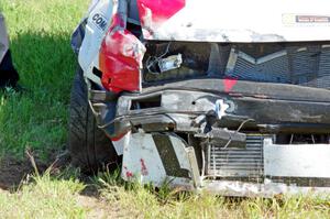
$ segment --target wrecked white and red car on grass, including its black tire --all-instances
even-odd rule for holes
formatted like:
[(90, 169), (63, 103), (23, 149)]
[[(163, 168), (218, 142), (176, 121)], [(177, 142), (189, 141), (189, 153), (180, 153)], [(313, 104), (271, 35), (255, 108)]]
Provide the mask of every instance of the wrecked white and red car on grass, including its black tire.
[(125, 180), (228, 196), (330, 194), (330, 2), (99, 0), (73, 47), (75, 165), (122, 160)]

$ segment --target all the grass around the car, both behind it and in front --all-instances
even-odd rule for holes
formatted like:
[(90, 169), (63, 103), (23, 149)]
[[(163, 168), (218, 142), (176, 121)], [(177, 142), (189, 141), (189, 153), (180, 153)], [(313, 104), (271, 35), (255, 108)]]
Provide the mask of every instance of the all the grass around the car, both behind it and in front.
[[(87, 4), (88, 0), (1, 0), (20, 84), (29, 89), (23, 95), (0, 94), (2, 157), (20, 160), (29, 147), (47, 160), (66, 144), (76, 66), (69, 37)], [(124, 183), (118, 173), (102, 173), (91, 185), (77, 178), (47, 172), (12, 193), (0, 188), (0, 218), (330, 218), (330, 200), (309, 197), (229, 199), (166, 187), (156, 191)], [(81, 195), (87, 186), (97, 187), (99, 196)]]

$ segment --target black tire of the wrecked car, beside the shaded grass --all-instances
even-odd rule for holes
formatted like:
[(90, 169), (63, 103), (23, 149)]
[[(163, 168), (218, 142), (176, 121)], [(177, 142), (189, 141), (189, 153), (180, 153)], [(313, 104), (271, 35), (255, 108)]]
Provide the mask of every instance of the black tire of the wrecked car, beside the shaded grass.
[(72, 88), (68, 151), (74, 166), (95, 173), (116, 164), (118, 155), (110, 139), (97, 127), (87, 98), (87, 85), (78, 68)]

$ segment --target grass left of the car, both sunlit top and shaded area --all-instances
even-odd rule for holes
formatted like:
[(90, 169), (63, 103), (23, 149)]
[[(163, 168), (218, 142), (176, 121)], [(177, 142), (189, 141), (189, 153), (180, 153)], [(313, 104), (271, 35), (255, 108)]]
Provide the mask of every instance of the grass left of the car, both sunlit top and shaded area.
[(1, 0), (22, 96), (0, 95), (1, 154), (26, 147), (46, 158), (67, 141), (68, 102), (76, 58), (70, 34), (87, 0)]

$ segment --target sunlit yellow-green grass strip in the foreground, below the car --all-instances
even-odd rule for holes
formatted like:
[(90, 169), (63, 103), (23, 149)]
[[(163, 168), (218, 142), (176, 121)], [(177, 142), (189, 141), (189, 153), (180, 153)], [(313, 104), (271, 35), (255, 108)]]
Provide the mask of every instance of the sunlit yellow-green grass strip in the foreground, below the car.
[[(212, 194), (155, 189), (124, 183), (118, 173), (102, 173), (88, 186), (98, 196), (82, 193), (77, 173), (64, 172), (30, 178), (13, 193), (0, 190), (0, 218), (308, 218), (328, 219), (330, 201), (310, 197), (224, 198)], [(81, 195), (85, 194), (85, 195)]]

